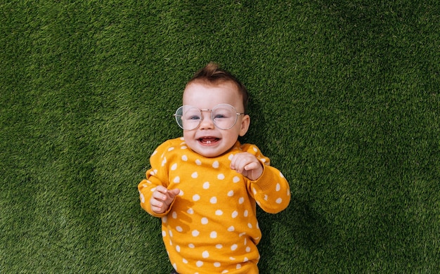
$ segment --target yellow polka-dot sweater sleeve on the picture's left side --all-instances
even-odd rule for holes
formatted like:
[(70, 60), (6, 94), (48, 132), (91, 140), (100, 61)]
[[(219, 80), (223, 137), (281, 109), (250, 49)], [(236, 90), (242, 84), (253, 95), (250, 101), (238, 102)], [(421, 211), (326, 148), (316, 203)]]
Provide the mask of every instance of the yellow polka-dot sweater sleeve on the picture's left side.
[(139, 198), (141, 200), (141, 207), (147, 211), (150, 215), (155, 217), (162, 217), (168, 214), (169, 210), (172, 208), (170, 205), (169, 209), (162, 214), (156, 214), (151, 210), (150, 199), (153, 196), (153, 192), (158, 185), (163, 185), (165, 188), (168, 187), (168, 164), (166, 152), (169, 148), (169, 141), (162, 143), (153, 154), (150, 156), (150, 169), (145, 172), (146, 178), (138, 184)]

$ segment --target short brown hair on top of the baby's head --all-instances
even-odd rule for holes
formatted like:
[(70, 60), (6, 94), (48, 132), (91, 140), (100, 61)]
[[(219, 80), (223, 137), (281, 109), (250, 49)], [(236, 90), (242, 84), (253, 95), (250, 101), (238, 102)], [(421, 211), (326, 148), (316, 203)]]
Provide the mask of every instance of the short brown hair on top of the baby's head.
[[(245, 85), (242, 84), (233, 74), (226, 70), (221, 70), (218, 64), (210, 62), (198, 72), (195, 72), (193, 78), (188, 81), (188, 84), (193, 81), (206, 81), (209, 84), (219, 84), (225, 81), (231, 81), (237, 86), (238, 92), (242, 96), (243, 107), (245, 113), (247, 113), (247, 103), (249, 101), (249, 93)], [(188, 86), (188, 84), (186, 84)]]

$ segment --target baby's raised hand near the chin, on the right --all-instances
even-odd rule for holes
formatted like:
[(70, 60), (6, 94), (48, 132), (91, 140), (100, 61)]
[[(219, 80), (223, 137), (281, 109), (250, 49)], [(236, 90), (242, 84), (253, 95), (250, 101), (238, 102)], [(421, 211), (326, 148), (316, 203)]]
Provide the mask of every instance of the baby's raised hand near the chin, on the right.
[(248, 152), (235, 154), (231, 160), (231, 169), (252, 181), (257, 180), (263, 174), (263, 166), (257, 157)]

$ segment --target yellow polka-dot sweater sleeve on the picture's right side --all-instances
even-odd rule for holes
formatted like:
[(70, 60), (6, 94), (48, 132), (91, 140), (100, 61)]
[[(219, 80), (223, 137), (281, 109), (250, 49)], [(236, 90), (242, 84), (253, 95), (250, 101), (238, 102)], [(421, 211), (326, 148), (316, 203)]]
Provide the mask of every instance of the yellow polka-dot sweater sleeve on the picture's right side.
[(255, 146), (247, 152), (254, 154), (263, 164), (263, 174), (256, 181), (247, 181), (247, 191), (264, 211), (276, 214), (287, 208), (290, 202), (290, 186), (281, 171), (271, 167), (268, 157), (261, 155)]

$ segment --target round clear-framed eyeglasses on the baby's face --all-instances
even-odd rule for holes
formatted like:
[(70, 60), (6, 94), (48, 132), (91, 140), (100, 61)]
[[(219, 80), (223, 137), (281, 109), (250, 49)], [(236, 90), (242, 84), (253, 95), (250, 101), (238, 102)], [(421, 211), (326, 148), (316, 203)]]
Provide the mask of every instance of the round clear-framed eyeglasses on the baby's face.
[(181, 129), (190, 131), (197, 129), (202, 122), (202, 112), (211, 112), (212, 122), (218, 129), (231, 129), (237, 123), (238, 116), (245, 115), (245, 113), (237, 112), (235, 107), (228, 104), (216, 105), (212, 110), (200, 110), (192, 105), (182, 105), (176, 110), (174, 117)]

